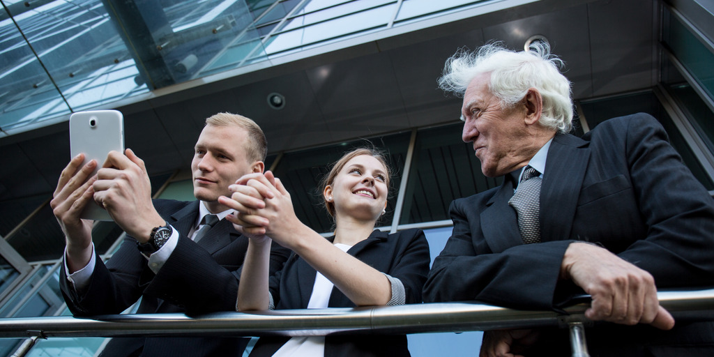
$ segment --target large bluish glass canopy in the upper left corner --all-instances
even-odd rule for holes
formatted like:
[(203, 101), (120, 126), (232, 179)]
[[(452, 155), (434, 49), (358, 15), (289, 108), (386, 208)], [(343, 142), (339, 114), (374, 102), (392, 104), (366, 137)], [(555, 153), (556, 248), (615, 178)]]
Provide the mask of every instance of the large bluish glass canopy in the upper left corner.
[[(261, 59), (260, 35), (250, 26), (273, 2), (247, 1), (250, 7), (244, 0), (11, 4), (17, 26), (6, 16), (0, 21), (0, 129)], [(262, 21), (280, 19), (297, 4), (281, 1)]]

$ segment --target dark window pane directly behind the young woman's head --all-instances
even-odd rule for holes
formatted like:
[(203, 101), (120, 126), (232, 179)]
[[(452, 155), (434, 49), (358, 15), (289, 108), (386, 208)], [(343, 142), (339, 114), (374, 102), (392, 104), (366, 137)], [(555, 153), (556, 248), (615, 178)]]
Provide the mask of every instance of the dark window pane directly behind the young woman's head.
[(401, 183), (401, 171), (409, 146), (409, 133), (383, 136), (366, 141), (353, 141), (327, 148), (309, 149), (285, 154), (275, 170), (275, 176), (283, 181), (291, 195), (295, 214), (301, 222), (320, 233), (332, 231), (332, 219), (323, 208), (322, 193), (318, 192), (318, 183), (328, 174), (328, 165), (352, 149), (361, 146), (376, 146), (388, 153), (388, 159), (394, 174), (391, 176), (390, 198), (387, 200), (387, 213), (380, 218), (377, 226), (391, 223), (394, 214), (395, 193)]

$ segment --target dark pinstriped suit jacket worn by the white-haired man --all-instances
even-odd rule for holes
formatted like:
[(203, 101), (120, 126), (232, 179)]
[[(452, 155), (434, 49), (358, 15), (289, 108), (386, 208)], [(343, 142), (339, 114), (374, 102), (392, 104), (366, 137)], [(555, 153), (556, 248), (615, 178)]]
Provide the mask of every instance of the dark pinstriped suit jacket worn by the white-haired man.
[[(507, 175), (502, 186), (452, 203), (453, 235), (433, 263), (425, 301), (557, 307), (578, 293), (558, 280), (573, 241), (602, 244), (650, 272), (658, 288), (714, 283), (714, 201), (647, 114), (610, 119), (583, 139), (555, 136), (540, 193), (542, 243), (523, 244), (508, 206), (513, 187)], [(560, 343), (567, 348), (567, 339)]]

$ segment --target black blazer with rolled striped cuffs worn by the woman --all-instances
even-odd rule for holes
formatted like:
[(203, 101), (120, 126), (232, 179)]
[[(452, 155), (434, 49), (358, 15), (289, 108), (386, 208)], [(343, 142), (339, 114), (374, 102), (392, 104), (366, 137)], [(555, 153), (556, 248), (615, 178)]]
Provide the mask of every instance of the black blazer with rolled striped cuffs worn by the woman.
[[(329, 238), (331, 241), (334, 237)], [(388, 234), (373, 231), (347, 251), (369, 266), (398, 278), (404, 285), (406, 303), (421, 303), (421, 288), (429, 271), (429, 246), (421, 229)], [(307, 308), (316, 270), (295, 253), (283, 271), (270, 279), (270, 291), (276, 310)], [(333, 288), (328, 306), (353, 308), (338, 288)], [(273, 356), (289, 338), (263, 337), (251, 351), (251, 357)], [(326, 336), (325, 356), (409, 356), (406, 336)]]

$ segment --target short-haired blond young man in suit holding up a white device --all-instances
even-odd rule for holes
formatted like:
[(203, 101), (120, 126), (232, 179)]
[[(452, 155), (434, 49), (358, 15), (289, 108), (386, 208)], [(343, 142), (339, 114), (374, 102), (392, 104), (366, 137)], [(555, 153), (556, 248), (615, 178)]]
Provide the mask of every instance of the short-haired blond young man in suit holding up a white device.
[[(191, 171), (196, 201), (151, 200), (144, 161), (127, 149), (107, 159), (111, 168), (89, 177), (96, 161), (77, 156), (62, 171), (51, 201), (66, 235), (60, 284), (75, 316), (121, 313), (141, 297), (139, 313), (234, 311), (238, 269), (248, 248), (218, 203), (245, 174), (263, 172), (266, 139), (244, 116), (219, 113), (206, 119)], [(82, 208), (97, 201), (127, 238), (106, 265), (91, 241)], [(271, 273), (288, 250), (273, 245)], [(247, 338), (114, 338), (101, 356), (240, 356)]]

